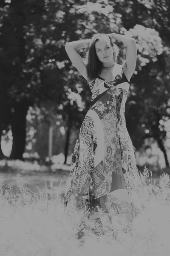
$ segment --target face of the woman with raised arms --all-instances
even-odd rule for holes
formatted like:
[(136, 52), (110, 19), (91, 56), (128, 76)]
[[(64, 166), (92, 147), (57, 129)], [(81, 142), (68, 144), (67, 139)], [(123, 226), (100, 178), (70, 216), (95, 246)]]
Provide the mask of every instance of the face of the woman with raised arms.
[(113, 49), (111, 47), (111, 41), (109, 38), (103, 37), (99, 39), (95, 44), (95, 49), (99, 61), (108, 62), (113, 59)]

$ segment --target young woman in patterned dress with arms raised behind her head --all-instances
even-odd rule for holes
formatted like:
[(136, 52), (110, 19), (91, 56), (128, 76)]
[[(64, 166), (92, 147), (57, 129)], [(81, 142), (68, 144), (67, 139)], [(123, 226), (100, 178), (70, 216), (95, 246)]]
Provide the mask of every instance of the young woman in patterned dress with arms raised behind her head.
[[(117, 63), (115, 40), (127, 46), (123, 65)], [(85, 64), (77, 50), (87, 45)], [(115, 33), (96, 34), (89, 40), (65, 44), (65, 50), (92, 92), (91, 107), (72, 155), (65, 206), (73, 197), (77, 207), (88, 210), (90, 220), (117, 215), (130, 227), (142, 210), (142, 183), (125, 123), (125, 102), (136, 67), (136, 42)]]

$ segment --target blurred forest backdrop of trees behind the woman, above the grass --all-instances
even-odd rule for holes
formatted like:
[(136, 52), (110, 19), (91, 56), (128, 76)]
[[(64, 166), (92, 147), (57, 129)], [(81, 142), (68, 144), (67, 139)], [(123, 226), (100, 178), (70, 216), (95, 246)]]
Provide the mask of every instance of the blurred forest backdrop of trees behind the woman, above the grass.
[[(157, 175), (169, 172), (169, 13), (169, 0), (1, 0), (2, 171), (7, 171), (4, 159), (71, 164), (91, 91), (64, 46), (114, 32), (133, 37), (137, 45), (125, 118), (138, 168), (147, 166)], [(126, 47), (115, 43), (122, 64)], [(78, 51), (82, 58), (85, 51)]]

